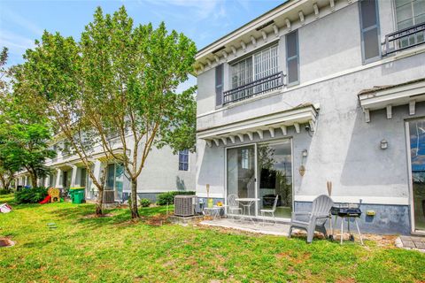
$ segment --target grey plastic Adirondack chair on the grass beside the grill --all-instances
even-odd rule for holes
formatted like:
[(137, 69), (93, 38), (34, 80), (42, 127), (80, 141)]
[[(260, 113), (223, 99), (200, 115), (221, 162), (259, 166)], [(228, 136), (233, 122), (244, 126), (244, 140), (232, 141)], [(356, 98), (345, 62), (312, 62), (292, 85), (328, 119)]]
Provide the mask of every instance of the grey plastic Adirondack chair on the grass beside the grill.
[[(328, 237), (326, 233), (325, 223), (329, 218), (329, 212), (334, 202), (328, 195), (319, 195), (313, 200), (313, 209), (312, 212), (292, 212), (292, 218), (290, 219), (290, 234), (292, 233), (292, 228), (297, 227), (299, 229), (304, 229), (307, 231), (307, 242), (311, 243), (313, 241), (314, 231), (321, 232), (325, 235), (325, 238)], [(297, 217), (303, 216), (307, 220), (299, 220)]]

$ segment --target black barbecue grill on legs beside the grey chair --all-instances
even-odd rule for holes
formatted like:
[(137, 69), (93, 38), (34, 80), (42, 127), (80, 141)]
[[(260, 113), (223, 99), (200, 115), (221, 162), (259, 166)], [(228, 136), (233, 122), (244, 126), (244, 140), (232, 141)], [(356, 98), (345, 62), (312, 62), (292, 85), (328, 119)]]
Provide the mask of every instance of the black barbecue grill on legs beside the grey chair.
[[(354, 241), (354, 236), (352, 235), (352, 232), (350, 230), (350, 218), (354, 218), (354, 222), (357, 227), (357, 232), (359, 233), (359, 238), (361, 244), (363, 244), (363, 240), (361, 239), (361, 233), (359, 229), (359, 224), (357, 223), (357, 218), (360, 218), (361, 216), (361, 210), (359, 208), (359, 204), (357, 203), (335, 203), (334, 206), (330, 209), (330, 214), (335, 215), (335, 226), (337, 218), (341, 218), (341, 244), (343, 243), (343, 236), (344, 236), (344, 218), (348, 218), (348, 233), (350, 233), (350, 241)], [(329, 237), (333, 240), (334, 239), (334, 230), (332, 229), (332, 221), (330, 221), (332, 235)]]

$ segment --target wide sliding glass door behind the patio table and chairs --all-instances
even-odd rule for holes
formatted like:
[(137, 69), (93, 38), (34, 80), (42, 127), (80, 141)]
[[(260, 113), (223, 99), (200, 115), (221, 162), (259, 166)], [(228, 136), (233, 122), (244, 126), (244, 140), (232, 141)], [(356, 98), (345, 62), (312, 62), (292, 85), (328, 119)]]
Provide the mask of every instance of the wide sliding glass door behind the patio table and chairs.
[[(257, 152), (256, 152), (257, 151)], [(258, 198), (251, 215), (271, 210), (277, 196), (276, 218), (292, 212), (292, 155), (290, 140), (227, 149), (227, 196)]]

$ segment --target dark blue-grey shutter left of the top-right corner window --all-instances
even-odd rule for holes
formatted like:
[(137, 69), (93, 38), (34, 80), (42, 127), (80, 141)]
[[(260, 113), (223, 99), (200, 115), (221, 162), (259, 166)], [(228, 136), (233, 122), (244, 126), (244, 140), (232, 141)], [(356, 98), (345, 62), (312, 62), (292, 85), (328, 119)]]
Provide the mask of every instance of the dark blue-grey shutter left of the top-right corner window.
[(378, 4), (375, 0), (360, 0), (359, 7), (363, 62), (369, 63), (381, 57)]

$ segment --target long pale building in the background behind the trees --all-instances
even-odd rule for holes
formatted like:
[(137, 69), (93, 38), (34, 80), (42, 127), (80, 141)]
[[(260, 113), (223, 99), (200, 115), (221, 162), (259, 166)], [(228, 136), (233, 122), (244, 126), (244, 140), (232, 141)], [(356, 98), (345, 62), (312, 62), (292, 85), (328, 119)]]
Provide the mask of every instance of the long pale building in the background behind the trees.
[[(133, 139), (128, 136), (128, 146), (132, 146)], [(120, 139), (112, 138), (112, 149), (117, 155), (123, 152)], [(66, 140), (56, 138), (51, 149), (57, 152), (57, 157), (48, 159), (46, 166), (51, 170), (50, 176), (38, 180), (37, 186), (58, 187), (69, 189), (70, 187), (84, 187), (85, 196), (88, 200), (96, 200), (97, 187), (89, 177), (89, 172), (77, 154), (70, 153)], [(100, 180), (102, 172), (106, 173), (104, 203), (125, 202), (131, 193), (131, 183), (124, 166), (104, 154), (103, 147), (98, 144), (88, 149), (91, 170), (97, 180)], [(142, 155), (140, 149), (139, 157)], [(128, 155), (131, 152), (127, 152)], [(156, 201), (160, 193), (168, 191), (193, 191), (195, 190), (196, 154), (189, 150), (181, 150), (177, 154), (169, 147), (161, 149), (153, 148), (146, 159), (142, 173), (137, 180), (137, 195)], [(27, 172), (20, 172), (15, 181), (15, 186), (32, 187), (31, 179)]]

